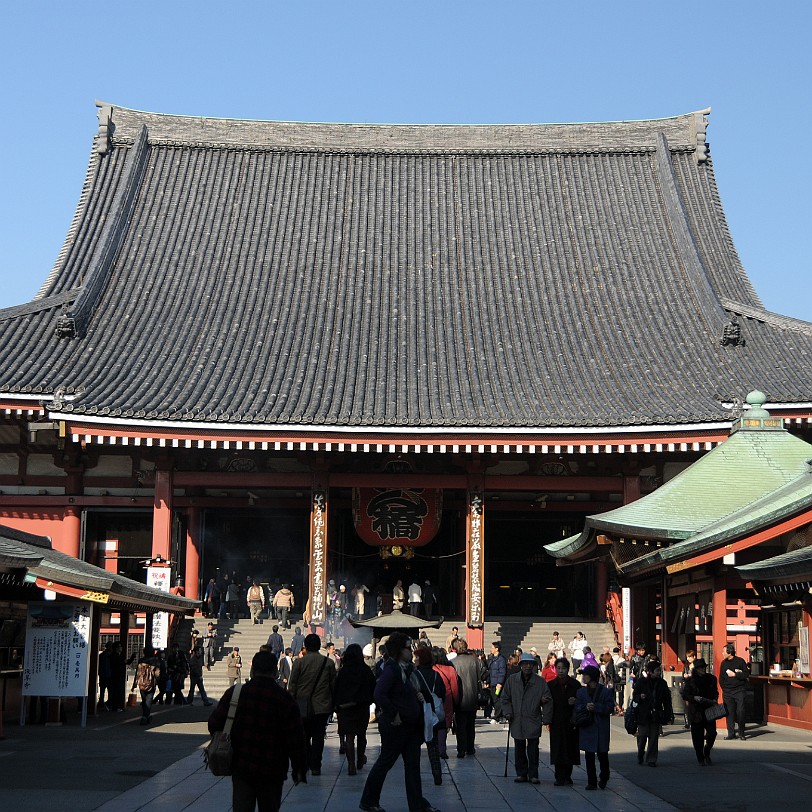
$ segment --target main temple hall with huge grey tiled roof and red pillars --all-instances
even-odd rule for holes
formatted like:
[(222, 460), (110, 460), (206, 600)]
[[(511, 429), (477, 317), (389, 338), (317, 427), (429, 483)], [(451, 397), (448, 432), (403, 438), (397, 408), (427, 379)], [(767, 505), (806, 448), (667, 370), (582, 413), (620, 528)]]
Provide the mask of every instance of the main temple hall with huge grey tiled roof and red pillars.
[(474, 647), (490, 617), (606, 618), (612, 560), (545, 545), (730, 442), (756, 387), (810, 439), (812, 324), (750, 284), (708, 114), (99, 103), (54, 266), (0, 310), (0, 524), (136, 580), (161, 556), (187, 597), (289, 582), (316, 624), (331, 579), (384, 608), (429, 580)]

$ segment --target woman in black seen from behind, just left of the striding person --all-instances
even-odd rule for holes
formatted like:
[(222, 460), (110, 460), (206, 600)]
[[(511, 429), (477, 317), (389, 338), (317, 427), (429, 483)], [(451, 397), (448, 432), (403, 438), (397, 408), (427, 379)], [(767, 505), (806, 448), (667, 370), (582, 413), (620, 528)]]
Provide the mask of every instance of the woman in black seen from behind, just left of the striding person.
[(355, 775), (367, 763), (369, 706), (374, 693), (375, 675), (364, 662), (361, 646), (352, 643), (344, 652), (333, 686), (338, 735), (344, 737), (347, 756), (347, 775)]

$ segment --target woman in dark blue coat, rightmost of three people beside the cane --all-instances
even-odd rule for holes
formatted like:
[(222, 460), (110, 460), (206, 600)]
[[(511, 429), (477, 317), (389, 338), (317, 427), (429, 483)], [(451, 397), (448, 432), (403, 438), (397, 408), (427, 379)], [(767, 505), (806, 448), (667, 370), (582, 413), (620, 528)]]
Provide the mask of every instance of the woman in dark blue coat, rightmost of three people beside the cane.
[[(584, 751), (587, 789), (606, 788), (609, 781), (609, 717), (615, 709), (614, 693), (599, 680), (594, 665), (582, 669), (583, 688), (575, 695), (572, 722), (578, 728), (578, 744)], [(600, 779), (595, 771), (595, 756), (601, 766)]]

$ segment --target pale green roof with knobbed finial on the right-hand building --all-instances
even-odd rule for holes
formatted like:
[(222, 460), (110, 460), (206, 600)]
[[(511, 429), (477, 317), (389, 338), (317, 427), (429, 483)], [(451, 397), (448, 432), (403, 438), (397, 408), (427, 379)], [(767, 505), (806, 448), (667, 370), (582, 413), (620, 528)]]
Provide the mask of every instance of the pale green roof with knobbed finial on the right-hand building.
[[(731, 436), (653, 493), (589, 516), (584, 530), (548, 544), (559, 563), (596, 558), (611, 545), (619, 572), (644, 575), (777, 526), (808, 522), (812, 446), (787, 432), (764, 408), (761, 392)], [(623, 547), (622, 554), (616, 549)]]

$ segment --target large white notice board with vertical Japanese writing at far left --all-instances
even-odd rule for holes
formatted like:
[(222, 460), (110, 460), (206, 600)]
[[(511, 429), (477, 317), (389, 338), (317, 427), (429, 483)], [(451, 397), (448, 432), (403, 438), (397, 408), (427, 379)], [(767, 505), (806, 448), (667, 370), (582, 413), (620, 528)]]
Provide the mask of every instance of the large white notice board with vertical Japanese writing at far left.
[(90, 602), (28, 604), (23, 696), (87, 696)]

